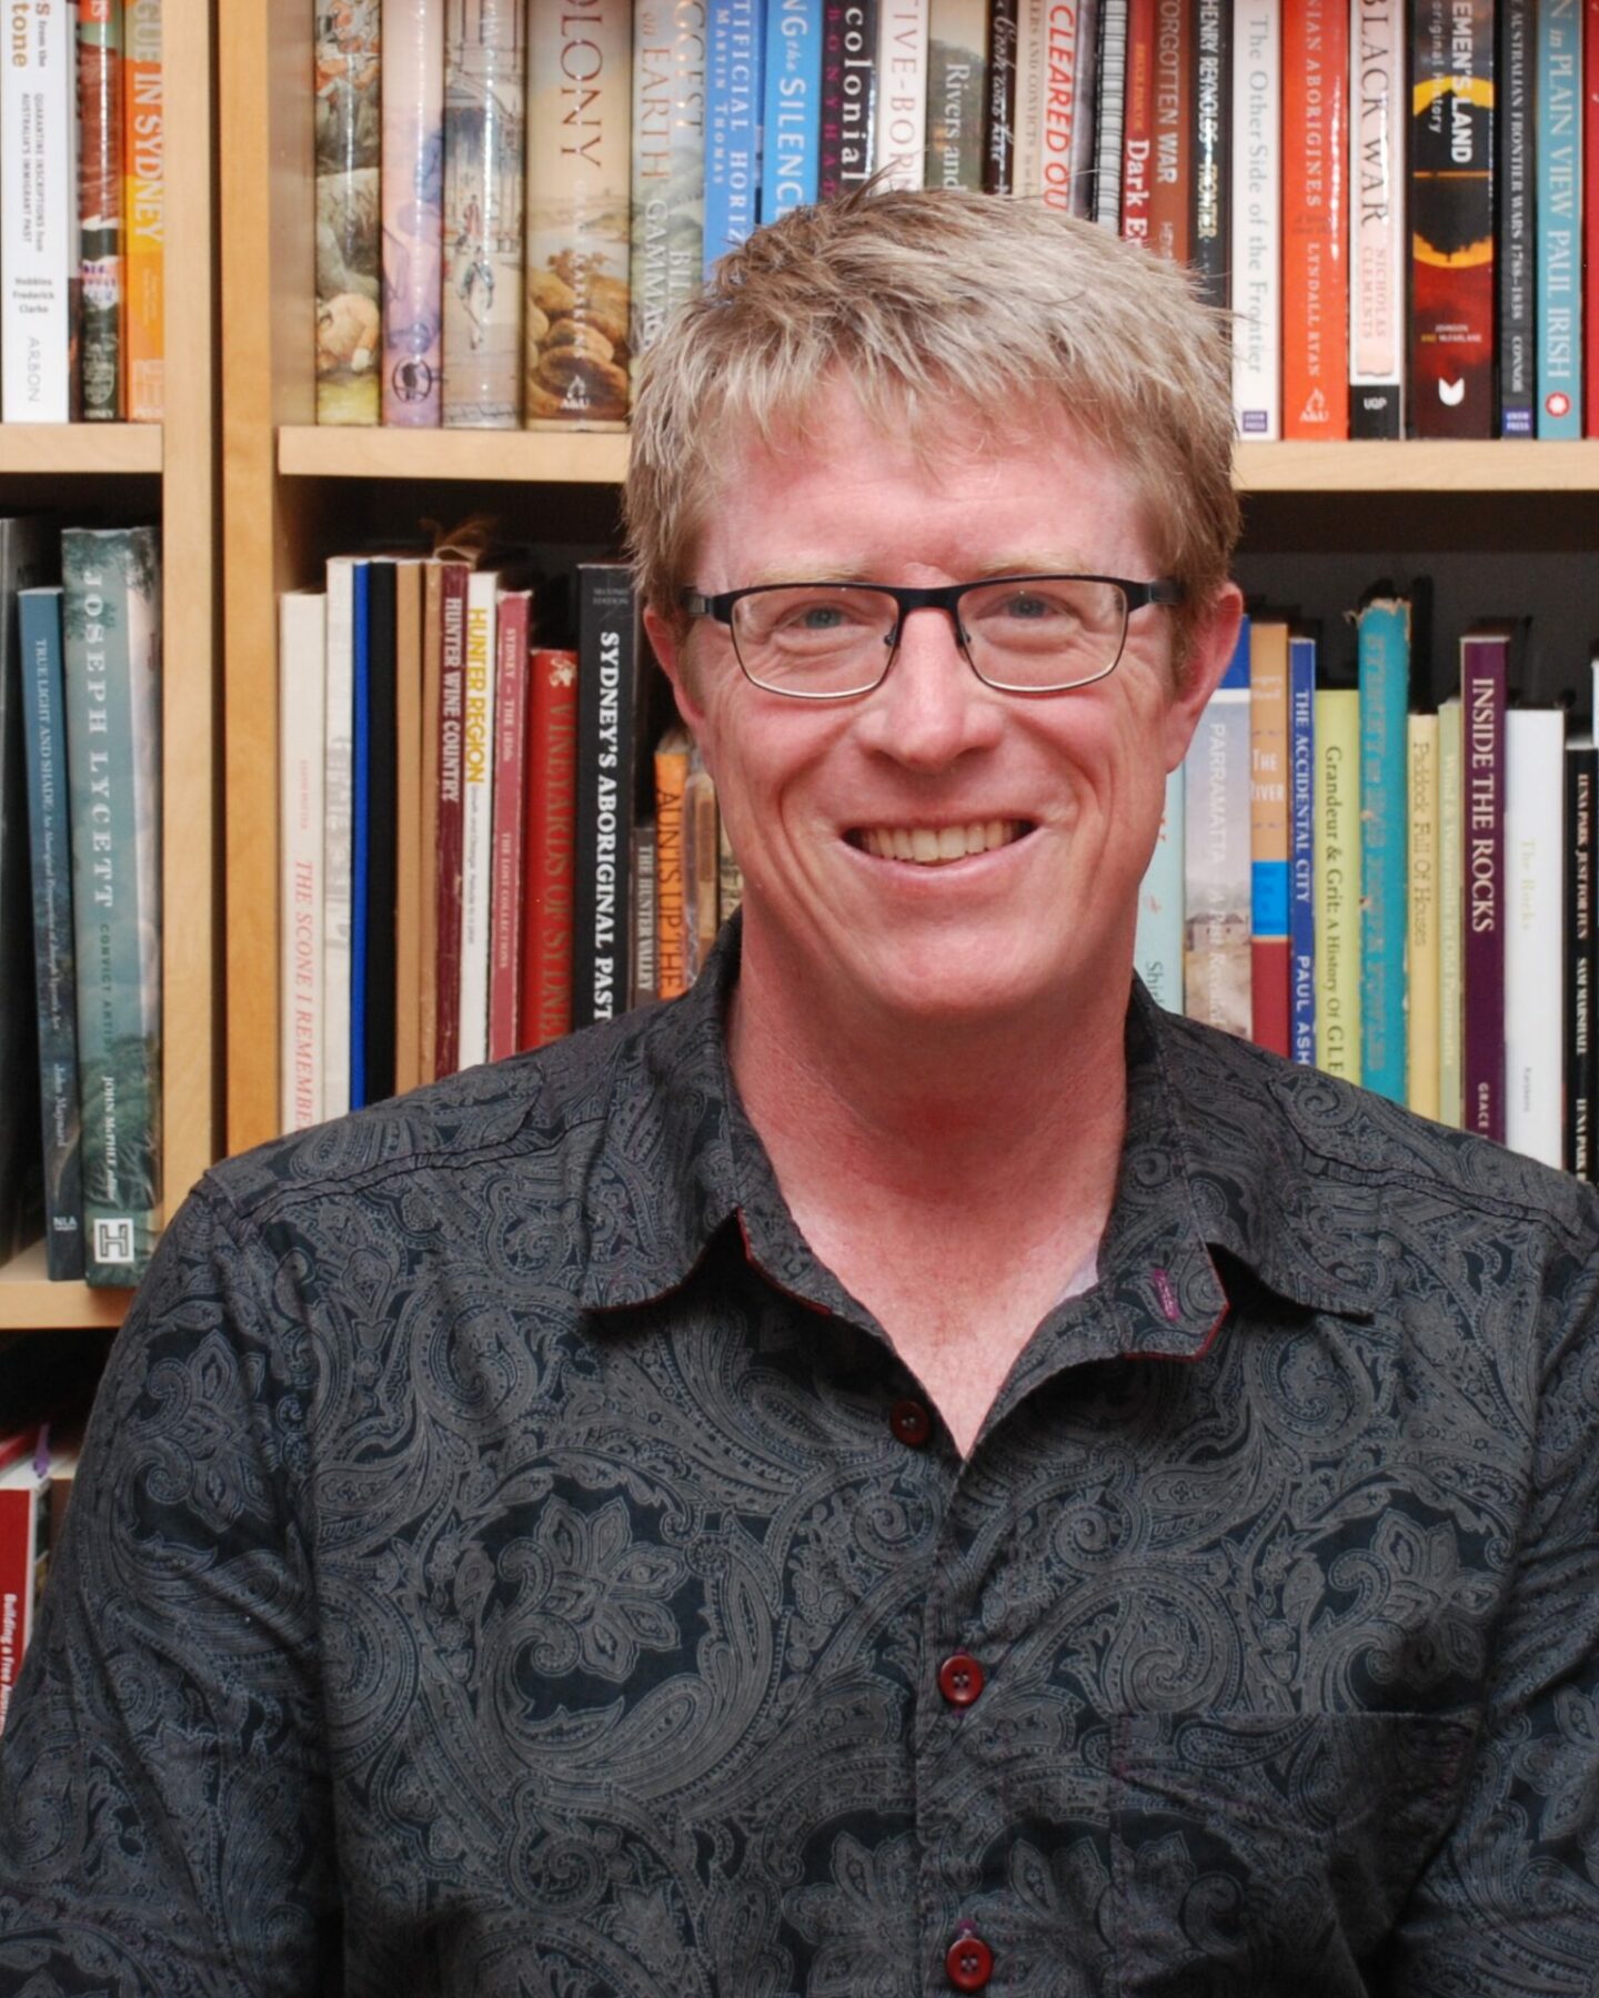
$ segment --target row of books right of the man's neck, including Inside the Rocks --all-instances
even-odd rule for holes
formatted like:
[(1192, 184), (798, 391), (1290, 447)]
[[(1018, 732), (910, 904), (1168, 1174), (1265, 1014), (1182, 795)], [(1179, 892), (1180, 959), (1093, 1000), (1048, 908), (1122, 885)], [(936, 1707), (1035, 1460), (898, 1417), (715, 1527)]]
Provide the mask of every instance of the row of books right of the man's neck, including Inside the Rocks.
[(1355, 623), (1349, 673), (1245, 621), (1169, 781), (1139, 971), (1175, 1011), (1595, 1179), (1593, 737), (1509, 701), (1513, 625), (1467, 631), (1431, 703), (1411, 599)]

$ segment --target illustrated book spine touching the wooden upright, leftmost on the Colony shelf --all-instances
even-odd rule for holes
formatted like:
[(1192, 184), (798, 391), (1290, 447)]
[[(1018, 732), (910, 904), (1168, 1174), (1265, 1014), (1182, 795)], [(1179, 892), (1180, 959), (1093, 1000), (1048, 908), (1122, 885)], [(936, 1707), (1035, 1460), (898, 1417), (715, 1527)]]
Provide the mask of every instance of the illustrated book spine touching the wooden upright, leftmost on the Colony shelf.
[(380, 0), (316, 10), (316, 420), (376, 424), (382, 380)]

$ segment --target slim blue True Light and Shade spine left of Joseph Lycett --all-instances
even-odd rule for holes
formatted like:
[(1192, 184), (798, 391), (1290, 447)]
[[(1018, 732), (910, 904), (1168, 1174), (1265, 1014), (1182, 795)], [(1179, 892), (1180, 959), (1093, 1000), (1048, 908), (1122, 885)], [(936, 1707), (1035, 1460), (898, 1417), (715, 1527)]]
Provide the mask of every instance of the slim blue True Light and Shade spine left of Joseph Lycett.
[(24, 589), (22, 741), (34, 889), (44, 1253), (52, 1283), (84, 1275), (78, 977), (72, 953), (72, 841), (66, 805), (62, 593)]

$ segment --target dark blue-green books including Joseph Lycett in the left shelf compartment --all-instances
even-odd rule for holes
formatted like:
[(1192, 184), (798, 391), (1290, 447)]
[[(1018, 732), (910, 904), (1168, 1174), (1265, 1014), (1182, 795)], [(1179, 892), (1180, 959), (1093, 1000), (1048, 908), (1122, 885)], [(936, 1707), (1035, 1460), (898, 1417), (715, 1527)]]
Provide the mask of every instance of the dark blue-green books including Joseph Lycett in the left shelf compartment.
[(0, 1261), (132, 1285), (160, 1223), (160, 549), (0, 519)]

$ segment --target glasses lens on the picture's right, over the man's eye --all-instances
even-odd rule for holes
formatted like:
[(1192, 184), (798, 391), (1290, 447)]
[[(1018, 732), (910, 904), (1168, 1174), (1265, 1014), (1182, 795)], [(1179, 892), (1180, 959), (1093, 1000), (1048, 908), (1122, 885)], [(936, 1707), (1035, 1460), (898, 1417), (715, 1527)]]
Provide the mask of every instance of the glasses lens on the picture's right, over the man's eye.
[(1127, 599), (1115, 583), (1033, 575), (961, 595), (971, 663), (993, 687), (1081, 687), (1121, 657)]

